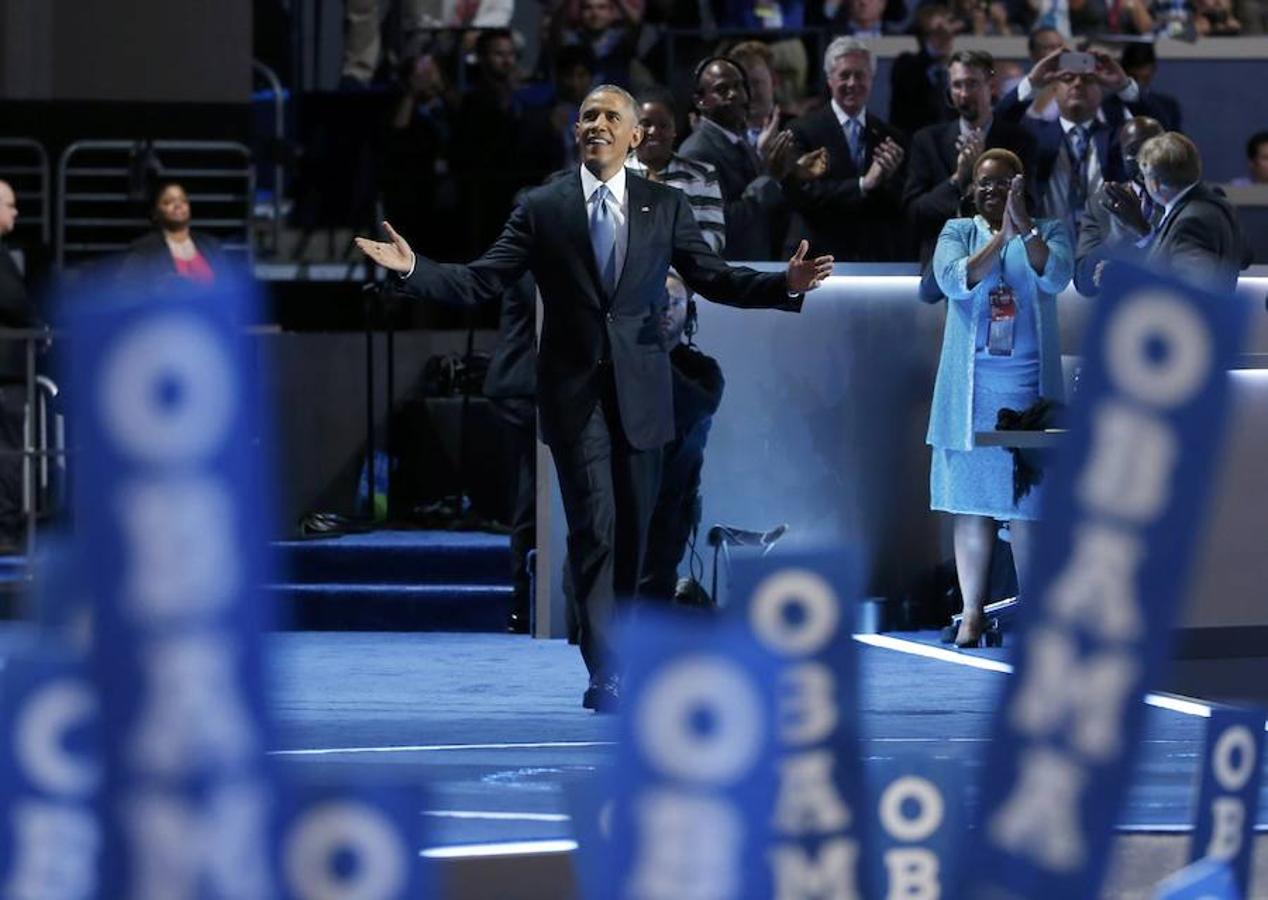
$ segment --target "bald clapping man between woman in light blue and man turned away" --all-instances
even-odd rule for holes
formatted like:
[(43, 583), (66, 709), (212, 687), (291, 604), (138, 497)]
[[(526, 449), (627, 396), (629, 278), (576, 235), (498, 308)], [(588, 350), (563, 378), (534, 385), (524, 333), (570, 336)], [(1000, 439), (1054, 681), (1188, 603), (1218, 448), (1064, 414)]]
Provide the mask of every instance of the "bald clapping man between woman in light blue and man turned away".
[(1074, 288), (1084, 297), (1101, 293), (1110, 260), (1140, 259), (1163, 218), (1163, 208), (1145, 190), (1137, 156), (1151, 137), (1165, 131), (1148, 115), (1127, 119), (1118, 132), (1127, 181), (1106, 181), (1088, 200), (1074, 251)]

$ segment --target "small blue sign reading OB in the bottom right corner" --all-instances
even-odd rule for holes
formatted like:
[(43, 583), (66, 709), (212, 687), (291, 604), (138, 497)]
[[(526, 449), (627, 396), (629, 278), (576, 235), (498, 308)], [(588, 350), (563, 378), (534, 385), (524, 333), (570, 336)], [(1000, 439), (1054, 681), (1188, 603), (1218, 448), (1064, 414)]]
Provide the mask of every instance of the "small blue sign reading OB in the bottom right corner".
[(1229, 863), (1246, 896), (1263, 768), (1263, 710), (1213, 709), (1206, 726), (1189, 861)]

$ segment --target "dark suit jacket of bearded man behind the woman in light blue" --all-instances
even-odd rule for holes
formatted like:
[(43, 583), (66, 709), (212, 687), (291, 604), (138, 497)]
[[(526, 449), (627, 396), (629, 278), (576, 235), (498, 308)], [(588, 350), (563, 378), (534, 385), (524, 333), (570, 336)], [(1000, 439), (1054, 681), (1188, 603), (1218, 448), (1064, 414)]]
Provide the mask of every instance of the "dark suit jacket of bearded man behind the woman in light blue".
[[(921, 245), (921, 261), (933, 256), (933, 246), (947, 219), (961, 214), (961, 191), (951, 184), (955, 171), (960, 120), (928, 125), (915, 132), (907, 164), (907, 184), (903, 188), (903, 209), (915, 231)], [(1003, 147), (1021, 157), (1026, 171), (1031, 171), (1035, 157), (1035, 138), (1021, 125), (995, 117), (987, 132), (987, 150)], [(966, 188), (967, 190), (967, 188)], [(1032, 198), (1033, 199), (1033, 198)]]

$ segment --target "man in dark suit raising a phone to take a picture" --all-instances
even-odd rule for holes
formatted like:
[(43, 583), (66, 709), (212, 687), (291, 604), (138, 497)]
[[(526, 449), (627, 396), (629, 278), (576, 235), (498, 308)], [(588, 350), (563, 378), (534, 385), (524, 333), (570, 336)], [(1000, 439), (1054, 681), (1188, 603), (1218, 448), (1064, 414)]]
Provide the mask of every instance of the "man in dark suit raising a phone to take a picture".
[[(1078, 240), (1088, 198), (1104, 181), (1123, 180), (1118, 129), (1129, 113), (1153, 115), (1153, 106), (1108, 53), (1092, 51), (1094, 71), (1070, 72), (1060, 68), (1061, 52), (1035, 63), (1000, 99), (995, 115), (1021, 123), (1035, 136), (1033, 183), (1040, 214), (1063, 219)], [(1035, 94), (1051, 84), (1056, 85), (1058, 120), (1026, 115)]]

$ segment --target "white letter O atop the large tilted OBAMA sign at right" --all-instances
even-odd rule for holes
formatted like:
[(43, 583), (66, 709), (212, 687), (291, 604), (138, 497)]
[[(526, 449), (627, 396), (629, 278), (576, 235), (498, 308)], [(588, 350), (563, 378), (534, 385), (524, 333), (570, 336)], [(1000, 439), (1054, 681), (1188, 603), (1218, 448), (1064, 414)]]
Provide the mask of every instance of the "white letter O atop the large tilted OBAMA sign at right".
[[(1161, 352), (1151, 352), (1151, 346)], [(1115, 384), (1155, 407), (1177, 407), (1206, 384), (1211, 333), (1192, 304), (1141, 292), (1115, 313), (1106, 335), (1106, 365)]]

